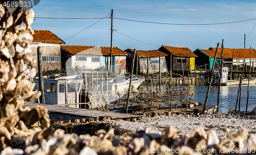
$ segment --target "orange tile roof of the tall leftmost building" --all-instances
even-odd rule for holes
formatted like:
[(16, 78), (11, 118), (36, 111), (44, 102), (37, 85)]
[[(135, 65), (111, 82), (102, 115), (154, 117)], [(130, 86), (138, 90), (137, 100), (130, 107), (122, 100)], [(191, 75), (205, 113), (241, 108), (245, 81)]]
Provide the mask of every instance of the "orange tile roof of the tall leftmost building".
[(49, 30), (34, 30), (32, 42), (65, 43)]

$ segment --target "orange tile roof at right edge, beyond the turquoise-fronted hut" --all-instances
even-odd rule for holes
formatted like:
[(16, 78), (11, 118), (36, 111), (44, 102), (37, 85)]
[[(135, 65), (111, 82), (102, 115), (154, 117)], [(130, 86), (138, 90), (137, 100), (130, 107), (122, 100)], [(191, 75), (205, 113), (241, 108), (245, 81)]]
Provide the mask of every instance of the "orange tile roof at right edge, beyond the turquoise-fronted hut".
[[(209, 48), (209, 50), (216, 50), (216, 48)], [(222, 48), (218, 48), (218, 52), (221, 53)], [(249, 59), (250, 58), (250, 49), (229, 49), (229, 48), (223, 48), (223, 55), (227, 59), (232, 59), (234, 51), (234, 59)], [(251, 49), (251, 58), (256, 58), (256, 51), (254, 49)]]

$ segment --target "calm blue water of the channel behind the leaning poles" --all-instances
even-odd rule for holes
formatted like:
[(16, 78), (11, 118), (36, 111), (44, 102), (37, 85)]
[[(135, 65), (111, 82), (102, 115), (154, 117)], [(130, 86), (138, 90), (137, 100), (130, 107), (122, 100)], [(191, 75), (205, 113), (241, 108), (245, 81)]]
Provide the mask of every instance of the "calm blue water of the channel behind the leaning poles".
[[(142, 86), (144, 88), (146, 87), (146, 85), (142, 85)], [(152, 90), (155, 90), (156, 86), (157, 85), (155, 84), (151, 85)], [(181, 88), (183, 85), (174, 85), (174, 86)], [(203, 83), (201, 83), (201, 85), (189, 84), (184, 86), (190, 87), (190, 94), (192, 93), (194, 94), (192, 97), (192, 100), (195, 100), (204, 104), (208, 85), (204, 85)], [(211, 86), (207, 104), (217, 105), (218, 88), (219, 86), (217, 85)], [(161, 89), (167, 90), (168, 85), (162, 85)], [(221, 86), (219, 113), (228, 113), (228, 110), (230, 108), (234, 109), (236, 107), (237, 95), (238, 95), (238, 85)], [(246, 110), (246, 100), (247, 100), (247, 85), (242, 85), (241, 106), (240, 106), (241, 110), (244, 110), (244, 111)], [(256, 101), (256, 84), (250, 84), (248, 111), (251, 111), (256, 106), (255, 101)]]

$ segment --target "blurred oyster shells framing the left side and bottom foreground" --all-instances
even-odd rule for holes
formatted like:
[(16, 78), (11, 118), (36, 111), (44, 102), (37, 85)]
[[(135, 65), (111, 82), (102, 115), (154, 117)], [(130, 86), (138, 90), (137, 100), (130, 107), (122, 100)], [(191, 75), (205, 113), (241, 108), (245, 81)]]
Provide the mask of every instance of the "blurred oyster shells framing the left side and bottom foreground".
[[(170, 125), (160, 134), (150, 128), (137, 128), (133, 137), (97, 131), (97, 136), (65, 134), (49, 128), (47, 109), (25, 107), (25, 100), (40, 96), (34, 93), (29, 78), (35, 76), (35, 59), (28, 48), (33, 40), (31, 24), (34, 12), (0, 4), (0, 150), (4, 154), (225, 154), (254, 153), (256, 137), (241, 128), (236, 135), (227, 130), (220, 140), (215, 131), (203, 128), (179, 138)], [(28, 67), (31, 69), (28, 69)], [(41, 126), (38, 126), (37, 122)], [(44, 129), (42, 129), (44, 128)], [(230, 149), (229, 149), (230, 148)], [(180, 151), (181, 150), (181, 151)], [(197, 151), (196, 151), (197, 150)], [(199, 151), (200, 150), (200, 151)], [(203, 150), (206, 150), (205, 152)], [(239, 151), (238, 151), (239, 150)]]

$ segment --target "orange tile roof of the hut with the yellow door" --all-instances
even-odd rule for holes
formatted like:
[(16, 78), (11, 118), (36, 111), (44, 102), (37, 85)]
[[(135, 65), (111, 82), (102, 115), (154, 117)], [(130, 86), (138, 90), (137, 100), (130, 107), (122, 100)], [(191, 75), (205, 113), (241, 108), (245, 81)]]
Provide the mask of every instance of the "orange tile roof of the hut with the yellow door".
[(174, 56), (182, 56), (182, 57), (198, 57), (194, 52), (192, 52), (187, 47), (171, 47), (171, 46), (164, 46), (163, 47), (172, 53)]

